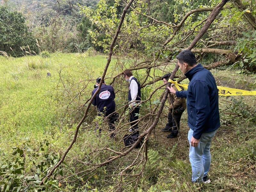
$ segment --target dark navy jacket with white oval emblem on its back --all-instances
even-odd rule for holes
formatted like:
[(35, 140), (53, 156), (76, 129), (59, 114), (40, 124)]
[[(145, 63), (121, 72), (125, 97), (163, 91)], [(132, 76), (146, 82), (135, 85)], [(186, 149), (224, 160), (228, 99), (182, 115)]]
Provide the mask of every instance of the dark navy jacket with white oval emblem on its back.
[[(98, 87), (92, 91), (92, 95), (97, 91)], [(97, 106), (98, 111), (103, 112), (106, 107), (107, 114), (113, 113), (116, 108), (115, 103), (115, 92), (111, 85), (102, 84), (100, 92), (96, 95), (95, 99), (92, 101), (92, 105)]]

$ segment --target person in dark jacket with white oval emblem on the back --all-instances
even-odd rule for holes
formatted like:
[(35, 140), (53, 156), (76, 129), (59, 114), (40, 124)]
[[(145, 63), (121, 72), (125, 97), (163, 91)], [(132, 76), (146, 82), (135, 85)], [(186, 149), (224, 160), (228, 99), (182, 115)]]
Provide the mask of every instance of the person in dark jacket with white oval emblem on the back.
[[(100, 84), (101, 77), (97, 78), (96, 85), (94, 85), (94, 90), (92, 91), (92, 95), (97, 91), (98, 86)], [(96, 95), (94, 100), (92, 101), (92, 105), (97, 106), (98, 116), (108, 117), (108, 126), (109, 131), (113, 132), (115, 130), (115, 120), (114, 112), (116, 110), (115, 103), (115, 92), (114, 88), (111, 85), (106, 85), (103, 81), (101, 85), (100, 92)], [(101, 130), (99, 130), (99, 133)], [(111, 133), (111, 138), (115, 137), (115, 133)]]

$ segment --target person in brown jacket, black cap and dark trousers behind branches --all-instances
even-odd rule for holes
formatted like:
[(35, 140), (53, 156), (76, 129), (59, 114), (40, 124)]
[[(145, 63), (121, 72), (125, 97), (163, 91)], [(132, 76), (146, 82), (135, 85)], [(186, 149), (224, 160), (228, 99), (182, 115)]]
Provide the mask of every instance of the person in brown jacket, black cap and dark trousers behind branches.
[[(171, 73), (168, 73), (162, 77), (164, 84), (167, 84), (170, 76), (171, 76)], [(178, 91), (178, 89), (174, 85), (172, 86), (172, 88), (174, 90)], [(177, 124), (180, 128), (180, 118), (182, 116), (182, 113), (187, 108), (185, 98), (177, 97), (176, 94), (173, 94), (173, 93), (171, 93), (171, 98), (172, 98), (173, 106), (172, 106), (172, 102), (170, 100), (170, 96), (168, 95), (168, 97), (167, 97), (167, 100), (169, 102), (168, 123), (165, 125), (164, 129), (162, 129), (162, 131), (170, 131), (171, 132), (171, 134), (167, 135), (167, 138), (169, 138), (169, 139), (177, 137), (179, 130), (176, 126), (175, 120), (177, 121)], [(174, 107), (174, 115), (172, 116), (173, 107)]]

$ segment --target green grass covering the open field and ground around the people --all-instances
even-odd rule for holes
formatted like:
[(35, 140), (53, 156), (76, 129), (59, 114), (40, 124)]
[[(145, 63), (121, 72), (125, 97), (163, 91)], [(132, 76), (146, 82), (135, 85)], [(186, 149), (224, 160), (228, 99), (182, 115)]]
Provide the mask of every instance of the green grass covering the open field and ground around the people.
[[(81, 91), (84, 86), (84, 79), (96, 79), (101, 76), (106, 62), (106, 56), (88, 56), (86, 53), (55, 53), (46, 58), (41, 56), (0, 57), (1, 151), (4, 151), (7, 156), (11, 156), (12, 147), (22, 147), (29, 140), (29, 146), (36, 150), (40, 142), (47, 140), (50, 142), (47, 150), (52, 153), (63, 154), (72, 140), (77, 121), (83, 115), (82, 111), (78, 114), (75, 122), (73, 121), (77, 115), (78, 99), (76, 98), (66, 111), (71, 101), (70, 98)], [(119, 73), (120, 68), (115, 65), (115, 62), (116, 60), (113, 60), (110, 64), (107, 73), (108, 77)], [(171, 70), (172, 67), (165, 68), (165, 70)], [(46, 76), (48, 72), (51, 73), (51, 77)], [(59, 73), (61, 74), (62, 82), (60, 81)], [(156, 75), (163, 74), (160, 70), (156, 70), (155, 73)], [(255, 89), (255, 80), (251, 76), (236, 74), (235, 71), (213, 70), (212, 73), (216, 77), (218, 84)], [(145, 70), (139, 71), (138, 75), (142, 76), (142, 74), (145, 74)], [(124, 80), (121, 79), (118, 84), (114, 84), (116, 90), (122, 82), (124, 83)], [(232, 82), (233, 85), (231, 84)], [(161, 83), (158, 82), (156, 85), (145, 89), (144, 94), (149, 94)], [(81, 103), (90, 96), (93, 84), (94, 81), (90, 82), (88, 88), (82, 92)], [(247, 85), (250, 85), (250, 87)], [(124, 89), (124, 91), (127, 91), (125, 86)], [(161, 92), (160, 90), (157, 93), (155, 100)], [(126, 94), (126, 92), (118, 92), (116, 94), (118, 106), (122, 105), (126, 100)], [(196, 191), (200, 189), (201, 191), (255, 191), (256, 134), (255, 122), (250, 121), (250, 119), (255, 116), (253, 111), (255, 112), (256, 108), (256, 97), (243, 97), (241, 101), (243, 105), (241, 103), (234, 105), (232, 102), (228, 98), (220, 97), (222, 125), (212, 142), (211, 184), (199, 186), (190, 182), (191, 168), (188, 160), (188, 142), (186, 139), (188, 126), (185, 113), (181, 121), (182, 138), (178, 149), (173, 150), (175, 142), (166, 140), (165, 135), (160, 132), (160, 129), (167, 121), (162, 116), (156, 127), (158, 141), (155, 141), (153, 135), (149, 140), (149, 156), (151, 157), (146, 166), (144, 176), (139, 182), (139, 188), (134, 189), (134, 185), (129, 184), (123, 190)], [(241, 110), (241, 106), (248, 108), (246, 109), (248, 113)], [(236, 113), (244, 113), (248, 118), (234, 118), (234, 116), (224, 114), (224, 112), (230, 112), (230, 110), (236, 110)], [(66, 115), (64, 115), (65, 113)], [(165, 108), (163, 115), (166, 114), (167, 110)], [(91, 122), (94, 115), (93, 113), (90, 115), (90, 120), (87, 120), (87, 123)], [(89, 129), (88, 126), (87, 124), (82, 125), (76, 144), (66, 157), (68, 164), (68, 168), (65, 170), (66, 175), (88, 168), (86, 166), (83, 167), (83, 164), (79, 164), (79, 160), (86, 161), (86, 159), (90, 159), (90, 156), (88, 156), (91, 152), (90, 148), (106, 144), (106, 141), (98, 140), (95, 136), (94, 125), (90, 125)], [(111, 146), (118, 150), (115, 142), (111, 142)], [(108, 155), (109, 153), (107, 152), (104, 154), (104, 156)], [(97, 163), (100, 161), (100, 157), (95, 159)], [(40, 159), (38, 159), (38, 162), (40, 162)], [(87, 184), (84, 183), (84, 180), (86, 180), (84, 177), (79, 178), (76, 182), (70, 182), (63, 177), (63, 180), (61, 180), (64, 186), (63, 191), (83, 191), (85, 188), (91, 188), (88, 191), (95, 188), (102, 191), (111, 191), (114, 186), (113, 183), (118, 180), (118, 176), (108, 178), (106, 174), (112, 174), (118, 163), (113, 162), (109, 166), (100, 168), (97, 171), (97, 177), (89, 179)]]

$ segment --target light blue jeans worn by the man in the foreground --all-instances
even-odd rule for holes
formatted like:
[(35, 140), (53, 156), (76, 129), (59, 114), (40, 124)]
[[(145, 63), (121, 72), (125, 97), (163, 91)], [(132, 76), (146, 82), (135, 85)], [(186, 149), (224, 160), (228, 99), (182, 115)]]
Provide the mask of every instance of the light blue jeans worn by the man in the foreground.
[[(217, 129), (218, 130), (218, 129)], [(210, 146), (212, 138), (217, 132), (217, 130), (209, 133), (203, 133), (199, 145), (197, 147), (192, 147), (190, 140), (193, 136), (193, 130), (188, 131), (188, 141), (189, 141), (189, 161), (192, 167), (192, 182), (203, 182), (203, 177), (207, 176), (211, 165), (211, 153)]]

